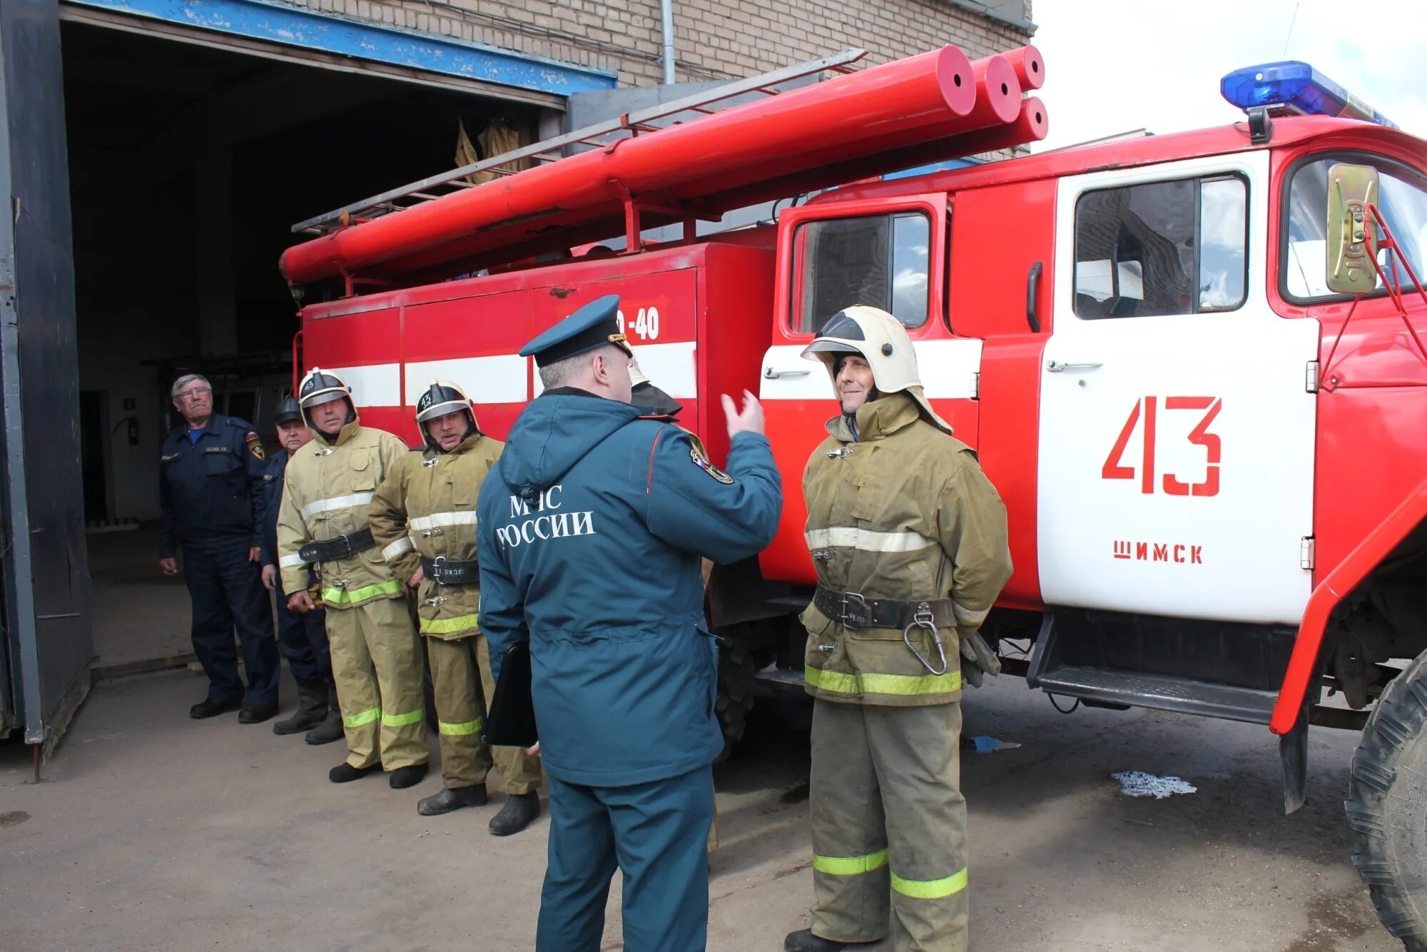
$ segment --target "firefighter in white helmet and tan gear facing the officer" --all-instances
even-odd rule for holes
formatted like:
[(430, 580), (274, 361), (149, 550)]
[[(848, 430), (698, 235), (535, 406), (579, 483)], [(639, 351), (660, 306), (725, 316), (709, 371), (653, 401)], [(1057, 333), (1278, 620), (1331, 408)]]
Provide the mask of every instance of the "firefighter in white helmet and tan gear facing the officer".
[(966, 948), (962, 681), (1000, 662), (977, 628), (1010, 578), (1006, 508), (976, 454), (922, 394), (902, 324), (835, 314), (803, 351), (842, 412), (803, 472), (818, 571), (808, 628), (813, 699), (812, 928), (789, 952), (876, 942)]

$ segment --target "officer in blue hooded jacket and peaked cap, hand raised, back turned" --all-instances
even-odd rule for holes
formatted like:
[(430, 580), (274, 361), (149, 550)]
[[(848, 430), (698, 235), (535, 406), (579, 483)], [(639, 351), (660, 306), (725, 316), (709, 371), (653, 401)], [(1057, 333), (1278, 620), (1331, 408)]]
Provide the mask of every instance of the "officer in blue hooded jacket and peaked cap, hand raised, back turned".
[(529, 641), (549, 775), (541, 952), (599, 948), (616, 866), (628, 952), (704, 949), (723, 741), (699, 558), (761, 551), (782, 508), (752, 394), (742, 411), (723, 397), (728, 472), (629, 404), (618, 304), (586, 304), (521, 350), (545, 391), (477, 502), (481, 628), (497, 677), (505, 649)]

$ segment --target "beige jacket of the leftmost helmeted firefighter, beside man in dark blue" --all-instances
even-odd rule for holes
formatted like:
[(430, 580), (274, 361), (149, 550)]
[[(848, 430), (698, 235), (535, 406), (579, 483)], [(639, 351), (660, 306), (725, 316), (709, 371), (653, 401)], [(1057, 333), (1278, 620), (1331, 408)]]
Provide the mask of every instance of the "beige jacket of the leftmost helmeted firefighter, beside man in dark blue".
[[(401, 438), (354, 421), (341, 428), (332, 445), (318, 435), (293, 454), (283, 477), (283, 504), (277, 515), (283, 591), (307, 589), (307, 565), (298, 555), (303, 545), (367, 528), (372, 494), (407, 452)], [(374, 598), (402, 597), (401, 582), (375, 545), (348, 558), (318, 562), (314, 568), (327, 608), (352, 608)]]

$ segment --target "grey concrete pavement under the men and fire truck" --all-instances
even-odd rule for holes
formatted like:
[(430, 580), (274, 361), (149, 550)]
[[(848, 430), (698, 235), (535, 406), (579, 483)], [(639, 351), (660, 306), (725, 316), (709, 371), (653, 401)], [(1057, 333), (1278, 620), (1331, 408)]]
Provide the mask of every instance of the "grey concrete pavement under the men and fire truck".
[[(440, 781), (332, 786), (338, 745), (234, 715), (190, 721), (186, 671), (100, 684), (43, 784), (0, 746), (0, 949), (527, 949), (547, 821), (495, 839), (489, 806), (421, 818)], [(291, 704), (291, 691), (285, 695)], [(709, 948), (775, 951), (806, 925), (808, 709), (765, 702), (718, 769)], [(1147, 711), (1062, 716), (1022, 681), (973, 691), (966, 734), (972, 948), (1388, 952), (1349, 862), (1354, 738), (1314, 728), (1309, 804), (1281, 815), (1266, 729)], [(1196, 794), (1130, 799), (1110, 774)], [(618, 949), (618, 886), (605, 949)]]

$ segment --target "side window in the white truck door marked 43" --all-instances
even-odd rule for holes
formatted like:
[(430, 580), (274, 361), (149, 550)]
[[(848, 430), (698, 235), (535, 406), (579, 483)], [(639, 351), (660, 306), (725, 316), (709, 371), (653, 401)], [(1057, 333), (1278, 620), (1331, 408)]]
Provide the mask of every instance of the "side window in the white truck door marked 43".
[(1249, 190), (1219, 176), (1102, 188), (1075, 218), (1083, 318), (1230, 311), (1247, 285)]

